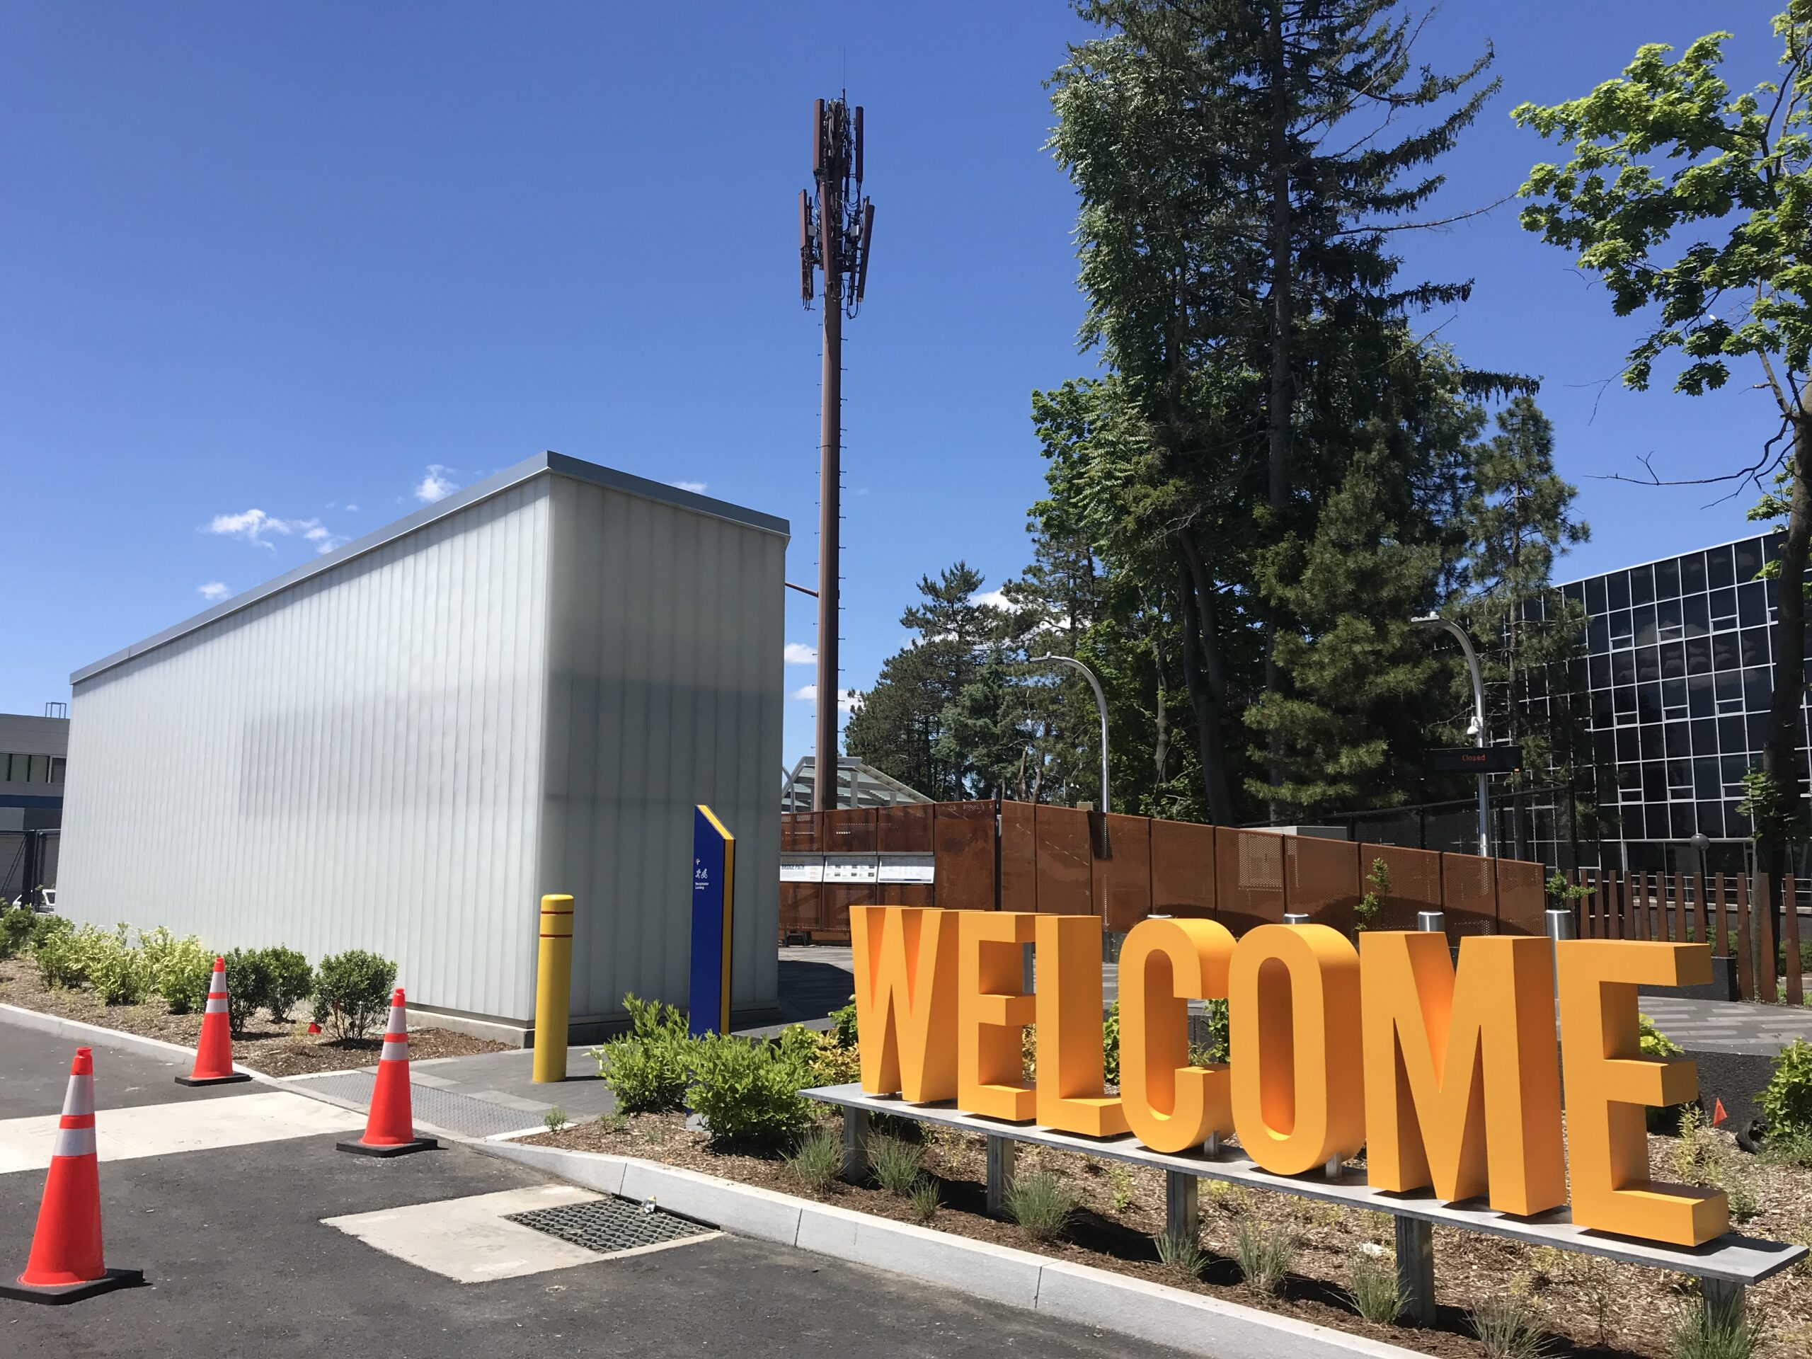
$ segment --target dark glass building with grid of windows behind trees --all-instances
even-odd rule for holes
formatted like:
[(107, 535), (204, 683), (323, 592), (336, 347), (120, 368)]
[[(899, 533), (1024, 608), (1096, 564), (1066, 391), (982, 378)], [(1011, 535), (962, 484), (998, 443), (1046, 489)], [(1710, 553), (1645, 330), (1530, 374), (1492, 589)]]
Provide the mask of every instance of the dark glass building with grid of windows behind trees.
[[(1586, 614), (1567, 689), (1575, 705), (1587, 699), (1600, 826), (1598, 853), (1582, 859), (1671, 870), (1694, 834), (1729, 843), (1720, 861), (1741, 855), (1750, 826), (1736, 808), (1745, 770), (1761, 759), (1774, 692), (1776, 582), (1756, 574), (1776, 542), (1743, 538), (1560, 585)], [(1805, 761), (1801, 699), (1801, 774)], [(1540, 848), (1551, 863), (1573, 857)]]

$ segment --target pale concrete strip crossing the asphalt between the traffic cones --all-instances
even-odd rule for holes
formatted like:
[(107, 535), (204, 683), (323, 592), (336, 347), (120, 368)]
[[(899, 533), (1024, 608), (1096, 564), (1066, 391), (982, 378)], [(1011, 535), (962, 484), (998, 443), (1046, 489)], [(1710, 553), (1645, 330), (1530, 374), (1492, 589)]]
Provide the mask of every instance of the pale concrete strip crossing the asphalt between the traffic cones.
[[(0, 1174), (47, 1171), (58, 1114), (0, 1122)], [(350, 1132), (364, 1116), (288, 1091), (241, 1094), (230, 1100), (181, 1100), (134, 1109), (101, 1109), (94, 1142), (103, 1161), (170, 1156), (183, 1151), (243, 1147), (254, 1142)]]

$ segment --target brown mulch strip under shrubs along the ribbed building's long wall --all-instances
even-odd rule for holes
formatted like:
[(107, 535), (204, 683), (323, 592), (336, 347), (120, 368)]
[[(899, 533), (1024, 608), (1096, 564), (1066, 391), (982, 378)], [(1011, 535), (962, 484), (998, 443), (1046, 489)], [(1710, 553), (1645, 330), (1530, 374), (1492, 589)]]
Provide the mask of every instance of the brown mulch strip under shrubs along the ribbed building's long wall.
[[(107, 1006), (87, 991), (54, 991), (38, 980), (38, 971), (24, 959), (0, 962), (0, 1004), (36, 1009), (43, 1015), (100, 1024), (105, 1029), (136, 1033), (143, 1038), (194, 1047), (201, 1036), (199, 1015), (172, 1015), (161, 998), (140, 1006)], [(288, 1024), (277, 1024), (259, 1011), (252, 1027), (234, 1038), (232, 1058), (266, 1076), (304, 1076), (313, 1071), (352, 1071), (377, 1065), (382, 1049), (382, 1031), (370, 1038), (332, 1038), (326, 1033), (308, 1033), (306, 1007), (297, 1007)], [(410, 1026), (410, 1056), (469, 1056), (473, 1053), (500, 1053), (504, 1044), (473, 1038), (451, 1029), (417, 1029)]]

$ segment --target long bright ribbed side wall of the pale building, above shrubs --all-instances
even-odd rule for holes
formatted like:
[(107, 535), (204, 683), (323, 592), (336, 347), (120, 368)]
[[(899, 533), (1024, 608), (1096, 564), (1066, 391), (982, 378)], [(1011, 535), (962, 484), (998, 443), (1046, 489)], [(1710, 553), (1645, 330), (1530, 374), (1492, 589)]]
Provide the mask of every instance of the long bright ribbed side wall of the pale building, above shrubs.
[(80, 681), (60, 910), (370, 948), (420, 1004), (529, 1017), (547, 500), (518, 484)]

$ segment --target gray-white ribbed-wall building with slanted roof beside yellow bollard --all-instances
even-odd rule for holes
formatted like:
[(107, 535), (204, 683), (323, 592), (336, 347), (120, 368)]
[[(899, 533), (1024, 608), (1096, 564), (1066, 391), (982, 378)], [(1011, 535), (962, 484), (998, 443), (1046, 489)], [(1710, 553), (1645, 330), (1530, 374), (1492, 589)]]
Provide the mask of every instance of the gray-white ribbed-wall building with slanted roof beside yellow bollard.
[[(785, 520), (545, 453), (74, 676), (60, 910), (368, 948), (574, 1040), (685, 1002), (692, 806), (737, 837), (732, 1006), (777, 998)], [(179, 790), (179, 792), (172, 792)]]

